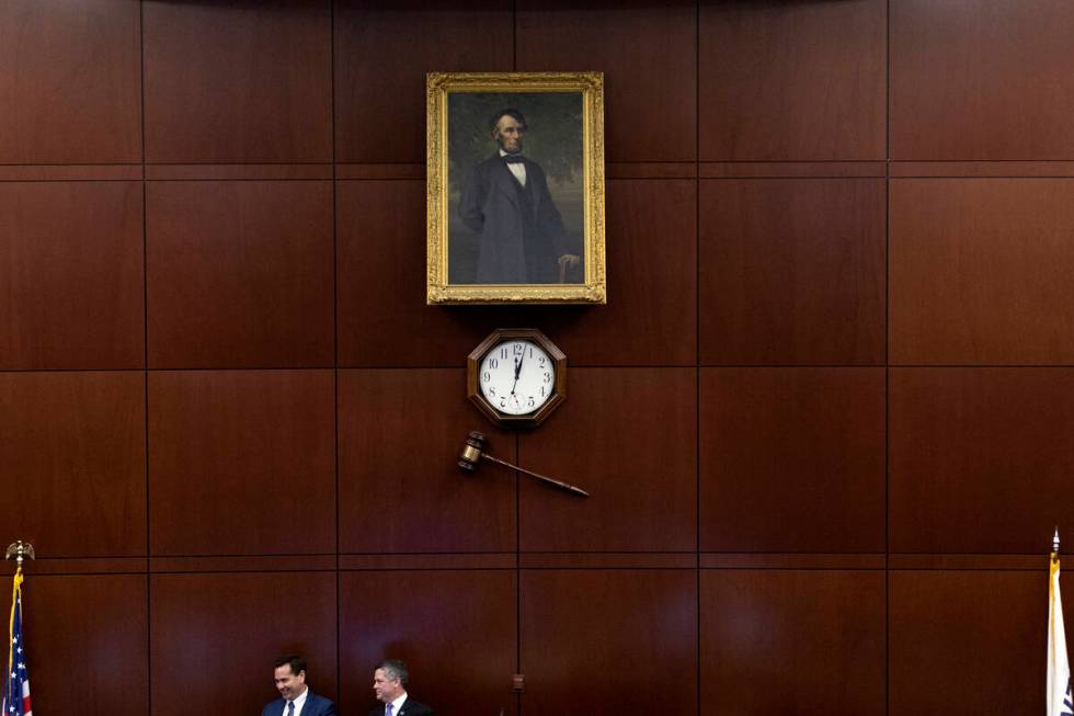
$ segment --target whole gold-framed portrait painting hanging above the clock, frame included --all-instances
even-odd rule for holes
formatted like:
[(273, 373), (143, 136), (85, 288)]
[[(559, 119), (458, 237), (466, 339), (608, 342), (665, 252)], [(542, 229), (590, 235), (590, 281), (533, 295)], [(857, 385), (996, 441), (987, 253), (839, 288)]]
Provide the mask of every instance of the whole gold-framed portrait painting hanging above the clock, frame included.
[(426, 75), (433, 304), (604, 304), (604, 73)]

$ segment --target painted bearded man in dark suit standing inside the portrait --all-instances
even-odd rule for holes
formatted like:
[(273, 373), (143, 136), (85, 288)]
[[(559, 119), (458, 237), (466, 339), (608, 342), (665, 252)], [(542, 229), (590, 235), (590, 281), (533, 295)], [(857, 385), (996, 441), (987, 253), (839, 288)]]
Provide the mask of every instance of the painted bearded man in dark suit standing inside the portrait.
[(475, 167), (459, 201), (459, 217), (478, 236), (477, 283), (560, 283), (580, 258), (545, 171), (522, 155), (526, 118), (518, 110), (500, 110), (491, 129), (498, 151)]

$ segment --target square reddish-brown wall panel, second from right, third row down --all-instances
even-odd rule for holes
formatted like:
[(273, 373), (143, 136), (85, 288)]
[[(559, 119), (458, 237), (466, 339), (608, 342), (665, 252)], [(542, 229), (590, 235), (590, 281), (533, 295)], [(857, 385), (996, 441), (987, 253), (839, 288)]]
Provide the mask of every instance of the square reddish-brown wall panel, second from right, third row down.
[(700, 548), (884, 550), (884, 372), (701, 372)]

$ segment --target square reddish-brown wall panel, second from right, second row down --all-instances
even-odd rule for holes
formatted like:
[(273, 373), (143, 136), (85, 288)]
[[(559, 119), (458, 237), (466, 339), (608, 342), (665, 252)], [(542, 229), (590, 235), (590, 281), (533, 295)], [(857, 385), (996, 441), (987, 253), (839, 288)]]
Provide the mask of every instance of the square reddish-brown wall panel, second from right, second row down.
[(700, 185), (702, 364), (884, 361), (884, 182)]

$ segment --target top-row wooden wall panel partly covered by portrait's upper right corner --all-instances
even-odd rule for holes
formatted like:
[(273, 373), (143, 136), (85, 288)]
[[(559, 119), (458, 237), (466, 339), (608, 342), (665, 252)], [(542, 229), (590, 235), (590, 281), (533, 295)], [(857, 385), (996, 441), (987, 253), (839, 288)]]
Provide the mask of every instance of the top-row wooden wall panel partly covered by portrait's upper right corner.
[(604, 71), (608, 161), (697, 157), (693, 2), (529, 0), (516, 22), (518, 71)]

